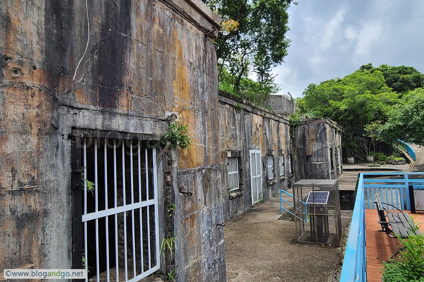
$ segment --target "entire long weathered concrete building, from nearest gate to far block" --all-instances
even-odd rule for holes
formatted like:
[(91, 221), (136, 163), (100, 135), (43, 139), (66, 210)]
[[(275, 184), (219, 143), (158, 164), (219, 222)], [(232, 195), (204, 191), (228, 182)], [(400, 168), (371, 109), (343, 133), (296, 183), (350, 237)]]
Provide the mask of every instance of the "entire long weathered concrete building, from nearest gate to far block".
[[(87, 3), (0, 6), (0, 271), (226, 281), (223, 222), (308, 169), (337, 177), (335, 125), (292, 136), (287, 116), (218, 95), (221, 20), (200, 0)], [(191, 149), (160, 142), (174, 121)]]

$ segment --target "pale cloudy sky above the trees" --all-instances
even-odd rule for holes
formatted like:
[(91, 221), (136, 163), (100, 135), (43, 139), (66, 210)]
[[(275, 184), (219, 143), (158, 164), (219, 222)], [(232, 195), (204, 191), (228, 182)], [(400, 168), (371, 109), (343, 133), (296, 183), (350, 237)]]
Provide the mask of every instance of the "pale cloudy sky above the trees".
[(363, 64), (424, 72), (423, 0), (298, 0), (288, 13), (289, 55), (273, 69), (279, 94), (349, 75)]

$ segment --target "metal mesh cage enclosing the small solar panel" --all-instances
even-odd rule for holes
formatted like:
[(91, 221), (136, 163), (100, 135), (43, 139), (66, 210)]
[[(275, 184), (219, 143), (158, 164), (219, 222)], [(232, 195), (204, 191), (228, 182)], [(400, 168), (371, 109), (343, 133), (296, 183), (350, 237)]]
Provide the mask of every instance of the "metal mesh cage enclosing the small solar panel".
[[(329, 201), (322, 208), (322, 205), (314, 203), (306, 204), (309, 192), (328, 191)], [(296, 221), (296, 242), (322, 244), (329, 243), (339, 245), (341, 239), (341, 215), (338, 180), (307, 180), (303, 179), (293, 184), (293, 208)], [(332, 230), (326, 231), (328, 240), (323, 242), (318, 240), (318, 217), (324, 217), (324, 222), (330, 223), (334, 218)], [(315, 220), (312, 220), (314, 218)], [(305, 228), (305, 223), (309, 219), (310, 224), (314, 224), (311, 230)], [(306, 222), (305, 222), (306, 221)], [(326, 228), (326, 227), (324, 227)], [(315, 232), (312, 234), (311, 232)]]

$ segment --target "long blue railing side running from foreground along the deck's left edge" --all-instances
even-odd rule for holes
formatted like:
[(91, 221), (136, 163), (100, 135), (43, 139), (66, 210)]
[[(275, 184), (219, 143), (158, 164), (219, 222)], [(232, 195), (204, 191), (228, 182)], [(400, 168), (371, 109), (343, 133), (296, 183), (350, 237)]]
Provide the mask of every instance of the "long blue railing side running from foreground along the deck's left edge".
[(367, 258), (365, 247), (365, 194), (363, 189), (363, 174), (361, 173), (340, 282), (367, 281)]

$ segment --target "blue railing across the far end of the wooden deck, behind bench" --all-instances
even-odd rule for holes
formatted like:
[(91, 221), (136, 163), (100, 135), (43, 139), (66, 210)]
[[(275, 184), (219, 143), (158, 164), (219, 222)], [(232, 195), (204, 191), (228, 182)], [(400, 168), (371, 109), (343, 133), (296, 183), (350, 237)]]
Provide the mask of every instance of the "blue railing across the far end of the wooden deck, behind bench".
[[(379, 194), (382, 202), (387, 202), (401, 210), (410, 210), (409, 185), (413, 185), (415, 190), (424, 188), (423, 179), (415, 179), (417, 176), (424, 176), (424, 172), (383, 172), (364, 173), (364, 176), (385, 176), (403, 177), (403, 179), (368, 179), (363, 178), (362, 187), (366, 195), (365, 208), (376, 209), (374, 195)], [(394, 207), (387, 206), (388, 210)]]

